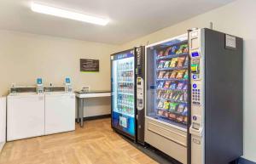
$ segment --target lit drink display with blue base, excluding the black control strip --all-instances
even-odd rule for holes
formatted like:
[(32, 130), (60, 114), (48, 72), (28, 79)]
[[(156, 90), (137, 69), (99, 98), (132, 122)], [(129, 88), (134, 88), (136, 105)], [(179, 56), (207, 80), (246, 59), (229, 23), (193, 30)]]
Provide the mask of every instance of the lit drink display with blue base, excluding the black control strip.
[(112, 126), (135, 136), (135, 57), (133, 50), (112, 57)]

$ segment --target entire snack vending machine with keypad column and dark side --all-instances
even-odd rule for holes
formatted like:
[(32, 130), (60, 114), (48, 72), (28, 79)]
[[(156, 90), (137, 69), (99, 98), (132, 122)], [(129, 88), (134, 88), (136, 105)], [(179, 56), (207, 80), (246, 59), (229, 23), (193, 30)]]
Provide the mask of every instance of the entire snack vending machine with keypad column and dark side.
[(236, 161), (242, 47), (240, 37), (205, 28), (148, 45), (145, 142), (184, 164)]

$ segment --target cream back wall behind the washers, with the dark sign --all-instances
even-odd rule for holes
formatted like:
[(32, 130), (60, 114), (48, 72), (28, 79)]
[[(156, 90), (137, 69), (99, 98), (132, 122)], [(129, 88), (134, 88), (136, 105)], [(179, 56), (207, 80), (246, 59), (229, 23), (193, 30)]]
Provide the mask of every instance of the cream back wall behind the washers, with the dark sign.
[[(6, 95), (11, 83), (61, 85), (70, 76), (74, 90), (90, 86), (92, 90), (110, 90), (110, 54), (115, 45), (49, 37), (15, 31), (0, 31), (0, 95)], [(79, 59), (99, 59), (100, 71), (79, 71)], [(88, 99), (84, 116), (110, 113), (110, 99)], [(96, 110), (95, 110), (96, 109)]]

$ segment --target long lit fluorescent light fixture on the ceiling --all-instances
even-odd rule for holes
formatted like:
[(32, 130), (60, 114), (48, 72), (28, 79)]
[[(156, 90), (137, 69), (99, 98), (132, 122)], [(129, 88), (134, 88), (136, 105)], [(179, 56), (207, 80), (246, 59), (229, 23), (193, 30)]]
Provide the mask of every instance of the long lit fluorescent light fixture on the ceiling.
[(75, 13), (72, 11), (68, 11), (66, 9), (54, 8), (54, 7), (46, 6), (40, 3), (32, 2), (31, 9), (32, 11), (41, 13), (41, 14), (50, 14), (50, 15), (61, 17), (61, 18), (79, 20), (87, 23), (96, 24), (96, 25), (107, 25), (109, 22), (108, 19), (102, 19), (95, 16), (87, 15), (87, 14)]

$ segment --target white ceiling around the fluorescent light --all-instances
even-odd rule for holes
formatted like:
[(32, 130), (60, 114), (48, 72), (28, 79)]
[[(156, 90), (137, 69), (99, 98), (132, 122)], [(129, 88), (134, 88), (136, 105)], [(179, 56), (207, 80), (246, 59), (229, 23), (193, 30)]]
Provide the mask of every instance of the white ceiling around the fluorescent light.
[(106, 26), (33, 13), (31, 0), (1, 0), (0, 29), (121, 44), (233, 0), (34, 0), (107, 17)]

